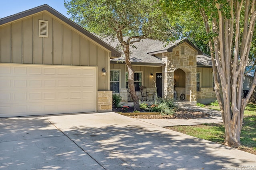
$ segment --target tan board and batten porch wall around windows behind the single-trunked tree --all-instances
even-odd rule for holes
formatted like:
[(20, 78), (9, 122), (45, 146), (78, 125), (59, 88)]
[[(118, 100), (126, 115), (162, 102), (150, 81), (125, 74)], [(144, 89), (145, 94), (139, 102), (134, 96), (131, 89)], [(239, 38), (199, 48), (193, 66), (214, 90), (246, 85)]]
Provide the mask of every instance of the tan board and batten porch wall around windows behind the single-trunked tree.
[[(142, 72), (142, 86), (154, 87), (154, 81), (156, 81), (156, 73), (162, 72), (162, 67), (152, 67), (152, 66), (136, 66), (133, 65), (132, 68), (135, 72)], [(125, 72), (128, 71), (126, 64), (110, 64), (110, 69), (120, 69), (121, 70), (121, 87), (125, 88)], [(150, 77), (150, 74), (154, 77)], [(154, 80), (154, 81), (153, 81)]]

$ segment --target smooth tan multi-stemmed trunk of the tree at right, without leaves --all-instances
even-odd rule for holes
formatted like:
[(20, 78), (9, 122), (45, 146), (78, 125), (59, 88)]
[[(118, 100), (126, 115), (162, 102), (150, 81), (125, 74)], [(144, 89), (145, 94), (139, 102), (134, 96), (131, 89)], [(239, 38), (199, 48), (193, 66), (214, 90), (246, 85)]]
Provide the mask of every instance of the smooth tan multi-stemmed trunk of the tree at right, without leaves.
[[(240, 1), (229, 1), (231, 7), (229, 17), (226, 17), (225, 12), (222, 11), (222, 4), (218, 3), (216, 1), (213, 4), (217, 8), (218, 17), (212, 17), (212, 13), (210, 16), (212, 18), (212, 33), (218, 35), (209, 39), (214, 72), (214, 89), (225, 126), (224, 145), (238, 147), (240, 146), (244, 109), (253, 91), (250, 88), (250, 93), (245, 100), (242, 100), (243, 75), (256, 20), (255, 1), (252, 3), (250, 0), (242, 1), (244, 4), (240, 4)], [(241, 35), (240, 15), (243, 6), (244, 29)], [(208, 16), (203, 8), (200, 9), (200, 12), (206, 32), (210, 33)], [(217, 75), (220, 76), (223, 98), (220, 95)], [(255, 84), (252, 87), (255, 87)]]

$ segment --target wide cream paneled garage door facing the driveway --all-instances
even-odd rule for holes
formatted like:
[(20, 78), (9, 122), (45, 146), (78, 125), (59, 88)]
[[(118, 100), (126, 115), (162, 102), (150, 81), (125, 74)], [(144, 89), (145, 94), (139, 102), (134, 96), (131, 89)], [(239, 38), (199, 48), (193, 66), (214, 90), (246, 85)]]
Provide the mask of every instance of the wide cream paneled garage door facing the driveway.
[(96, 111), (96, 67), (0, 63), (0, 117)]

